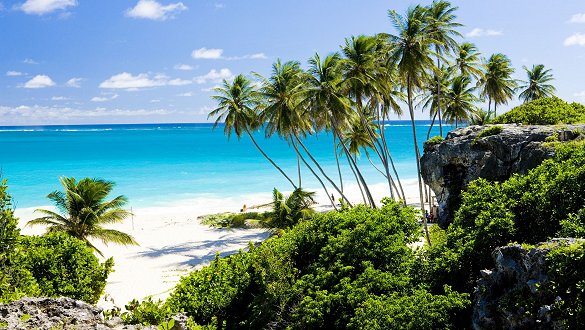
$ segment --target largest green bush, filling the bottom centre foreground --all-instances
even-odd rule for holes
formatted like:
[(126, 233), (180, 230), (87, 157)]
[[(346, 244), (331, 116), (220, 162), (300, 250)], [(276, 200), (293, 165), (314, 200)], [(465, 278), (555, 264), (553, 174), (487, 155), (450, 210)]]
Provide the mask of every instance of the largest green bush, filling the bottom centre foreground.
[(226, 328), (386, 327), (387, 319), (365, 316), (392, 310), (403, 320), (417, 308), (428, 309), (426, 323), (418, 318), (393, 327), (448, 327), (468, 296), (449, 288), (430, 292), (416, 280), (416, 252), (407, 245), (421, 235), (416, 212), (385, 203), (317, 215), (249, 252), (218, 256), (184, 277), (167, 304), (200, 324)]

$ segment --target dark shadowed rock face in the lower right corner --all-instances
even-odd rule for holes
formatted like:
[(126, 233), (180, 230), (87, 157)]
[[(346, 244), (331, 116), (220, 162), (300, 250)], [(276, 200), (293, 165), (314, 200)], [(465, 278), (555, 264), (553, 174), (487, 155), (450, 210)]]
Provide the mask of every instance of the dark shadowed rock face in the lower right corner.
[(481, 271), (474, 293), (473, 328), (562, 329), (552, 312), (560, 298), (539, 288), (548, 280), (547, 253), (577, 241), (561, 238), (531, 249), (519, 244), (496, 248), (495, 268)]

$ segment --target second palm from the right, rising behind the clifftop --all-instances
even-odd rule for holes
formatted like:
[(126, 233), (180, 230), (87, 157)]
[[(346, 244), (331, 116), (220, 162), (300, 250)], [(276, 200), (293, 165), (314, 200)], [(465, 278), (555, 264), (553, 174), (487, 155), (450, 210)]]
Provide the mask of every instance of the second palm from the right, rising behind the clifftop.
[(488, 98), (488, 113), (494, 103), (494, 117), (498, 104), (507, 104), (514, 96), (516, 80), (512, 79), (514, 68), (504, 54), (493, 54), (484, 65), (485, 72), (479, 81), (481, 96)]

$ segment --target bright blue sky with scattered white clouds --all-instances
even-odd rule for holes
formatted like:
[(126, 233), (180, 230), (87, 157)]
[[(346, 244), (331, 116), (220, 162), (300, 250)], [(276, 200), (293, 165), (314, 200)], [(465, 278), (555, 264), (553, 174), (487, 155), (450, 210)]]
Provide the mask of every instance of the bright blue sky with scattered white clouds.
[[(203, 122), (221, 79), (392, 33), (387, 10), (418, 3), (0, 0), (0, 125)], [(542, 63), (558, 96), (585, 103), (584, 1), (452, 3), (485, 57), (508, 55), (519, 79)]]

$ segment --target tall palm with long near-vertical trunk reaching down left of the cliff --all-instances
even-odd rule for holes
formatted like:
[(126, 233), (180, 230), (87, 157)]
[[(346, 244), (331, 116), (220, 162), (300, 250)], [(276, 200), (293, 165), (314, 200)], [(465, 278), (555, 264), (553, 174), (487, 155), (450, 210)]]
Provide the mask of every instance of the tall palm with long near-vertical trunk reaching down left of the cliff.
[[(425, 205), (420, 171), (420, 150), (416, 138), (413, 94), (415, 89), (422, 88), (424, 81), (428, 81), (427, 70), (434, 68), (429, 47), (436, 41), (432, 39), (432, 35), (428, 31), (428, 25), (426, 24), (427, 14), (423, 7), (415, 6), (409, 8), (406, 16), (401, 16), (396, 11), (391, 10), (388, 12), (388, 16), (397, 30), (396, 35), (389, 35), (389, 39), (394, 45), (390, 58), (396, 63), (398, 74), (407, 92), (408, 111), (412, 124), (414, 151), (416, 155), (420, 206), (421, 211), (424, 212)], [(423, 217), (423, 222), (427, 242), (431, 244), (425, 217)]]

